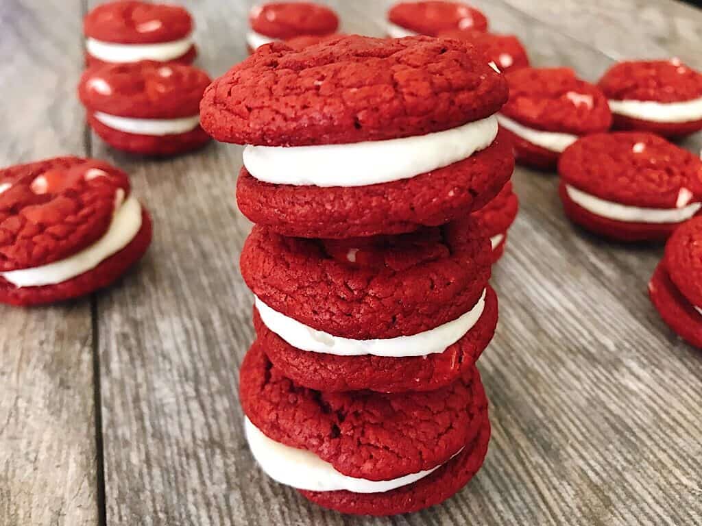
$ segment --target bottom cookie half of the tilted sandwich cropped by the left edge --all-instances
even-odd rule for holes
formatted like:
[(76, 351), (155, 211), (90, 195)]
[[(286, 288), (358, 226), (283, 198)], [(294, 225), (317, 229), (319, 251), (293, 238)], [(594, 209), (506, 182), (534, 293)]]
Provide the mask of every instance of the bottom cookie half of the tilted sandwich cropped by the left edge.
[(17, 306), (30, 306), (46, 303), (62, 302), (85, 296), (95, 290), (111, 285), (129, 267), (137, 262), (146, 252), (151, 243), (152, 224), (149, 213), (142, 210), (142, 224), (133, 240), (122, 250), (108, 257), (92, 270), (75, 278), (43, 287), (17, 288), (3, 278), (0, 278), (0, 303)]

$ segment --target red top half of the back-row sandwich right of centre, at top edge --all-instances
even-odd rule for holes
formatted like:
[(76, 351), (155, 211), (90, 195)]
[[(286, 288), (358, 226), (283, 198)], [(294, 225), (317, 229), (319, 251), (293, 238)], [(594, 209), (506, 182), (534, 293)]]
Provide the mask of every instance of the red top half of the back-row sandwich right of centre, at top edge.
[(411, 1), (392, 6), (388, 19), (418, 34), (437, 36), (449, 29), (487, 31), (487, 18), (476, 8), (449, 1)]

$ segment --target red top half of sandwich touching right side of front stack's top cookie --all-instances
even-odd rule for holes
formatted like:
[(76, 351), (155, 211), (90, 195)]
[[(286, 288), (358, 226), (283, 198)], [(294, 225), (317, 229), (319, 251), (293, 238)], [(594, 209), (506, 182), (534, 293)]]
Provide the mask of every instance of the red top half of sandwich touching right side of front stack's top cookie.
[(505, 75), (510, 100), (501, 112), (536, 130), (585, 135), (609, 130), (609, 103), (572, 69), (525, 67)]

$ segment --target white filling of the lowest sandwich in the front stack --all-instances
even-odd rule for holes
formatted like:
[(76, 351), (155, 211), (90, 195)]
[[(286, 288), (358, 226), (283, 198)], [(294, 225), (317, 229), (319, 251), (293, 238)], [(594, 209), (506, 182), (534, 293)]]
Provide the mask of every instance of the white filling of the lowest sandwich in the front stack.
[(320, 459), (310, 451), (298, 450), (295, 447), (271, 440), (248, 418), (244, 419), (244, 430), (246, 431), (246, 440), (249, 441), (251, 454), (263, 471), (273, 480), (298, 490), (317, 492), (346, 490), (354, 493), (388, 492), (397, 487), (415, 483), (440, 467), (436, 466), (426, 471), (411, 473), (391, 480), (355, 478), (339, 473), (329, 462)]

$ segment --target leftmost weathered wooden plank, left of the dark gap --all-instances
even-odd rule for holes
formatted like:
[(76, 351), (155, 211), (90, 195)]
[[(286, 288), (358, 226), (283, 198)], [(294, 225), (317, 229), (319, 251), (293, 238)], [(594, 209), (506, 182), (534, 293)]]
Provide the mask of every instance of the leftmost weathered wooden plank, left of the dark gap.
[[(0, 166), (82, 154), (79, 1), (0, 6)], [(0, 306), (0, 525), (95, 525), (91, 302)]]

